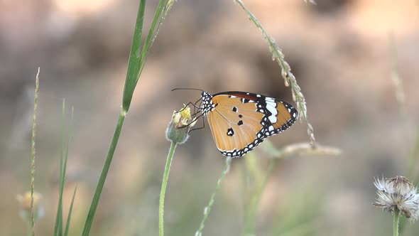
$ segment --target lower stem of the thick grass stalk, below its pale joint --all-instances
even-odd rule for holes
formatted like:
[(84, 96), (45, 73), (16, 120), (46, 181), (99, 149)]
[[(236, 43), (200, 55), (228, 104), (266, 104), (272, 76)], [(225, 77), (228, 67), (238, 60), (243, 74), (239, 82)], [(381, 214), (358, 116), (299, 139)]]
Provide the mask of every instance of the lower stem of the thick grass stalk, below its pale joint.
[(118, 144), (119, 134), (121, 134), (122, 124), (124, 124), (126, 113), (121, 111), (119, 115), (118, 124), (116, 125), (114, 137), (111, 141), (111, 146), (109, 146), (109, 151), (107, 155), (107, 159), (105, 160), (102, 173), (99, 177), (99, 182), (97, 183), (96, 191), (94, 191), (92, 204), (90, 204), (89, 213), (87, 213), (87, 218), (85, 222), (85, 227), (83, 227), (83, 236), (87, 236), (90, 233), (90, 229), (92, 228), (94, 214), (96, 213), (97, 205), (99, 204), (100, 195), (102, 194), (102, 189), (104, 186), (104, 182), (107, 178), (107, 174), (109, 171), (109, 167), (111, 166), (112, 158), (114, 157), (116, 144)]

